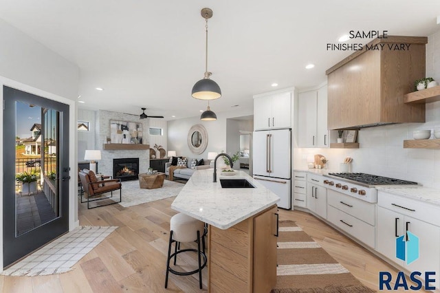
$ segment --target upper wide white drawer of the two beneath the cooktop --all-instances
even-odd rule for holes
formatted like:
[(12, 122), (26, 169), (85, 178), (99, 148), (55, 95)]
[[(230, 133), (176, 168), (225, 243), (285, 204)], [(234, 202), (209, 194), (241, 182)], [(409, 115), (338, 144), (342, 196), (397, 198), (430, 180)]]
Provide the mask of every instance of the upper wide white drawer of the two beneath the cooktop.
[(338, 208), (353, 217), (375, 226), (375, 204), (370, 204), (355, 197), (338, 193), (332, 189), (327, 189), (327, 203), (334, 208)]

